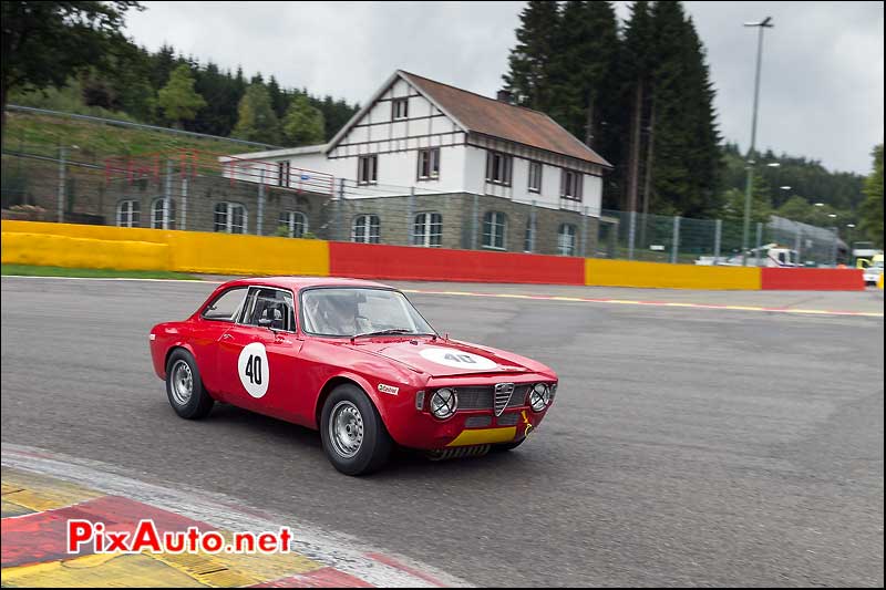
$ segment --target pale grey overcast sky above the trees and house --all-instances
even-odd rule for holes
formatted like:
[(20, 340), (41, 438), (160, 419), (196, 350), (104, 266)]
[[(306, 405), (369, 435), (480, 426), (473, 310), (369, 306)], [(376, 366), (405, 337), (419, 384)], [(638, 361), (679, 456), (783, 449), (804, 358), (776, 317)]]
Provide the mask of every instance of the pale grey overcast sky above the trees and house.
[[(364, 103), (396, 69), (494, 96), (523, 2), (144, 2), (128, 34), (200, 62)], [(617, 2), (619, 17), (628, 3)], [(758, 147), (867, 174), (883, 142), (883, 2), (686, 2), (708, 50), (723, 136), (750, 143), (756, 30), (765, 33)]]

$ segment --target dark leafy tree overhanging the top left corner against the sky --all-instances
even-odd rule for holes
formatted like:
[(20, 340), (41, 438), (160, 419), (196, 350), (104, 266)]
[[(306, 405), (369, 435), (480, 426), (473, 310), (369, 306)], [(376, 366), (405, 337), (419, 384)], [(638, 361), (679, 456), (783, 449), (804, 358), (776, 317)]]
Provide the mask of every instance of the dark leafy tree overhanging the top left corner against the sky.
[(126, 11), (138, 2), (3, 1), (0, 107), (16, 89), (60, 89), (70, 76), (105, 63), (110, 49), (125, 43)]

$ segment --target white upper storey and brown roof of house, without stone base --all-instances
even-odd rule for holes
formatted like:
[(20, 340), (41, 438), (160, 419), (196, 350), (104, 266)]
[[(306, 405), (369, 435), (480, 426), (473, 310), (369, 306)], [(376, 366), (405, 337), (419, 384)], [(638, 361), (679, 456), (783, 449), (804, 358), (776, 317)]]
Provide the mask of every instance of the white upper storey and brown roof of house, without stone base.
[(400, 70), (328, 144), (234, 157), (240, 161), (235, 175), (255, 178), (249, 164), (261, 162), (275, 184), (286, 182), (288, 163), (290, 183), (296, 169), (316, 170), (375, 185), (367, 197), (415, 186), (548, 208), (580, 205), (593, 215), (604, 169), (611, 167), (544, 113)]

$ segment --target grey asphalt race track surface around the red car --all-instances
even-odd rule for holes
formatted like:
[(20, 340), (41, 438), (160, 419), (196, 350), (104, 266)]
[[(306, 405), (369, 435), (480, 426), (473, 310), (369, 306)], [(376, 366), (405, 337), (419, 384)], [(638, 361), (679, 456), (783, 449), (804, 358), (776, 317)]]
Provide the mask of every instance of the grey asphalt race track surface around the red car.
[[(3, 278), (2, 442), (224, 494), (484, 586), (884, 583), (882, 317), (413, 293), (439, 330), (554, 366), (557, 404), (516, 452), (401, 456), (357, 479), (313, 432), (227, 406), (175, 417), (146, 334), (213, 287)], [(880, 291), (753, 298), (883, 311)]]

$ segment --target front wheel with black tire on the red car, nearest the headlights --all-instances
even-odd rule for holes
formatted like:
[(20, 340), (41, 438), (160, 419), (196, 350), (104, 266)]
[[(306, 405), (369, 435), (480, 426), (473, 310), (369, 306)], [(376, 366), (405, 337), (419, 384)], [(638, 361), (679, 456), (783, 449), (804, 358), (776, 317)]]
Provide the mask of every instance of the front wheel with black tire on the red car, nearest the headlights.
[[(354, 410), (357, 414), (353, 414)], [(356, 442), (357, 435), (353, 438), (346, 438), (351, 436), (350, 431), (347, 434), (342, 431), (339, 431), (338, 434), (331, 432), (330, 423), (333, 412), (339, 415), (340, 413), (344, 414), (344, 422), (348, 422), (349, 413), (356, 420), (359, 416), (358, 423), (361, 426), (359, 443)], [(348, 426), (351, 426), (351, 423)], [(363, 390), (349, 383), (332, 390), (323, 403), (323, 411), (320, 415), (320, 437), (323, 441), (323, 451), (329, 462), (346, 475), (367, 475), (378, 470), (388, 460), (393, 446), (391, 435), (388, 434), (372, 401)], [(348, 453), (349, 448), (344, 448), (348, 444), (356, 445), (350, 448), (352, 454)]]

